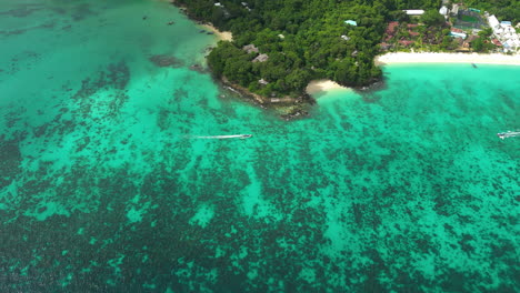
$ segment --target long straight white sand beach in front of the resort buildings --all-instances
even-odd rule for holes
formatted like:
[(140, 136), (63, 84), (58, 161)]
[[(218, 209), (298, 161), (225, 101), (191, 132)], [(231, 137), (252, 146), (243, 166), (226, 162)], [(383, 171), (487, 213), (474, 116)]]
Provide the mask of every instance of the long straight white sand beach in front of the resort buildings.
[(520, 65), (520, 54), (478, 54), (478, 53), (387, 53), (378, 55), (376, 64), (392, 63), (476, 63), (476, 64), (503, 64)]

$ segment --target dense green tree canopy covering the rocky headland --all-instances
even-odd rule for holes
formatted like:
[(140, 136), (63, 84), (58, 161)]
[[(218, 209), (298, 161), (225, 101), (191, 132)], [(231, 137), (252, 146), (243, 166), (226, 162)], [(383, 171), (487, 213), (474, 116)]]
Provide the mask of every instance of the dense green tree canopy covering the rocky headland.
[[(264, 97), (300, 94), (312, 79), (331, 79), (348, 87), (379, 80), (381, 70), (373, 58), (387, 22), (402, 17), (402, 9), (438, 10), (441, 6), (440, 0), (216, 2), (176, 1), (188, 8), (191, 18), (233, 33), (233, 42), (220, 42), (208, 57), (213, 73)], [(258, 52), (243, 50), (248, 44), (254, 44)], [(259, 54), (269, 59), (252, 62)]]

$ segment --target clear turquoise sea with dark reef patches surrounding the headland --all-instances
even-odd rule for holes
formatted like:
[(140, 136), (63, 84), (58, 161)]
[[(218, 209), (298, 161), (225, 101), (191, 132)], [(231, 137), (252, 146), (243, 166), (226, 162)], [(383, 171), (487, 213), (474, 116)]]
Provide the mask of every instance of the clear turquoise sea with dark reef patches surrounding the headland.
[(391, 65), (286, 122), (190, 69), (199, 30), (0, 2), (0, 291), (520, 290), (519, 67)]

